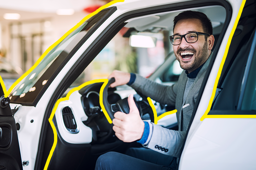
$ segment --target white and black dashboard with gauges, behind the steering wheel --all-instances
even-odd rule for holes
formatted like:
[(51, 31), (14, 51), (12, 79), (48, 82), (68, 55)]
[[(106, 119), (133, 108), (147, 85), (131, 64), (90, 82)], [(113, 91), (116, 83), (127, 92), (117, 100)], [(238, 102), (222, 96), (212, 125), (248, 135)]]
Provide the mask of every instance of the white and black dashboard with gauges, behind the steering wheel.
[[(68, 100), (61, 101), (55, 112), (55, 118), (61, 137), (72, 144), (104, 144), (115, 142), (117, 138), (104, 113), (100, 108), (100, 88), (103, 83), (94, 83), (73, 92)], [(126, 89), (126, 90), (125, 90)], [(132, 88), (108, 88), (108, 103), (118, 105), (124, 113), (129, 113), (125, 91), (129, 94)], [(152, 109), (145, 97), (135, 93), (134, 99), (140, 110), (142, 120), (150, 121), (149, 109)], [(127, 95), (127, 94), (126, 94)], [(166, 106), (155, 104), (158, 115), (166, 111)], [(112, 108), (112, 107), (111, 107)], [(128, 110), (127, 110), (128, 109)], [(177, 123), (176, 114), (168, 115), (158, 121), (158, 124), (168, 127)]]

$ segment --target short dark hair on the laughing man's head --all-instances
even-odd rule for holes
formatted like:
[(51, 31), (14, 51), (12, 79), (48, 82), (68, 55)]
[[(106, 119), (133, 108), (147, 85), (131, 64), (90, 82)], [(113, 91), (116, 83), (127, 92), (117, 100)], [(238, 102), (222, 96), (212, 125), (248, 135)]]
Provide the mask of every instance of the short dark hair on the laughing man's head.
[[(181, 19), (199, 19), (202, 23), (204, 33), (212, 35), (212, 22), (204, 13), (197, 11), (184, 11), (179, 13), (179, 15), (173, 19), (173, 31), (175, 25)], [(205, 37), (205, 39), (207, 39), (207, 37)]]

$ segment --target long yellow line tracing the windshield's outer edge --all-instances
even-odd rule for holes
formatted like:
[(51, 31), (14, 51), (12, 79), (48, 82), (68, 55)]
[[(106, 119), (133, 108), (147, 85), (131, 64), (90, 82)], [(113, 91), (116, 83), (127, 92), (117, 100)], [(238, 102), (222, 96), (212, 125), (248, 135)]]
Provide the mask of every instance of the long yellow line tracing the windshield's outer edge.
[[(91, 18), (93, 15), (97, 14), (98, 12), (100, 12), (101, 10), (108, 8), (110, 5), (113, 5), (117, 2), (124, 2), (124, 0), (114, 0), (111, 1), (110, 3), (103, 5), (102, 7), (100, 7), (99, 9), (97, 9), (96, 11), (90, 13), (89, 15), (87, 15), (86, 17), (84, 17), (79, 23), (76, 24), (76, 26), (74, 26), (73, 28), (71, 28), (67, 33), (65, 33), (58, 41), (56, 41), (54, 44), (52, 44), (49, 48), (47, 48), (47, 50), (41, 55), (41, 57), (36, 61), (36, 63), (28, 70), (26, 71), (20, 78), (18, 78), (18, 80), (16, 80), (11, 87), (9, 88), (9, 90), (4, 93), (4, 97), (7, 97), (12, 90), (14, 89), (14, 87), (20, 83), (20, 81), (25, 78), (32, 70), (34, 70), (36, 68), (36, 66), (43, 60), (43, 58), (45, 57), (45, 55), (47, 55), (56, 45), (58, 45), (62, 40), (64, 40), (70, 33), (72, 33), (76, 28), (78, 28), (80, 25), (82, 25), (84, 23), (84, 21), (86, 21), (87, 19)], [(2, 82), (1, 82), (2, 83)], [(6, 90), (5, 90), (6, 91)]]

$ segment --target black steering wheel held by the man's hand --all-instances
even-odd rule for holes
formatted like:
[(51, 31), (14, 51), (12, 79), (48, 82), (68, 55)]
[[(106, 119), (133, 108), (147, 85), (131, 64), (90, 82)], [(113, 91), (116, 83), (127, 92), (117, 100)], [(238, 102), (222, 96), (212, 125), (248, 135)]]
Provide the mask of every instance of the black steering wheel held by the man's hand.
[[(112, 83), (114, 83), (116, 80), (115, 78), (110, 78), (108, 80), (108, 84), (105, 86), (105, 88), (103, 89), (103, 105), (110, 117), (111, 120), (114, 119), (114, 114), (117, 112), (117, 111), (121, 111), (121, 112), (124, 112), (126, 114), (128, 114), (130, 112), (130, 107), (128, 105), (128, 98), (124, 98), (122, 100), (119, 100), (116, 102), (116, 104), (109, 104), (108, 103), (108, 86)], [(137, 92), (137, 91), (136, 91)], [(150, 115), (150, 119), (151, 119), (151, 122), (154, 122), (154, 114), (153, 114), (153, 111), (148, 103), (148, 100), (147, 100), (147, 97), (144, 96), (143, 94), (141, 94), (140, 92), (137, 92), (141, 97), (142, 97), (142, 101), (135, 101), (135, 104), (136, 106), (138, 107), (139, 109), (139, 112), (140, 112), (140, 116), (142, 117), (142, 114), (143, 112), (147, 111)], [(146, 102), (145, 102), (146, 101)]]

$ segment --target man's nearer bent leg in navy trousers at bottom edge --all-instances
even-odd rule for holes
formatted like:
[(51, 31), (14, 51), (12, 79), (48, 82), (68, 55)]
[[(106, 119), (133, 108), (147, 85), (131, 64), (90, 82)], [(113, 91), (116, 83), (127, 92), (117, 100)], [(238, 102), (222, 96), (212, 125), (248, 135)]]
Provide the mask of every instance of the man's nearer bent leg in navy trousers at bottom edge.
[(122, 153), (108, 152), (97, 159), (95, 170), (171, 170), (171, 168), (133, 158)]

